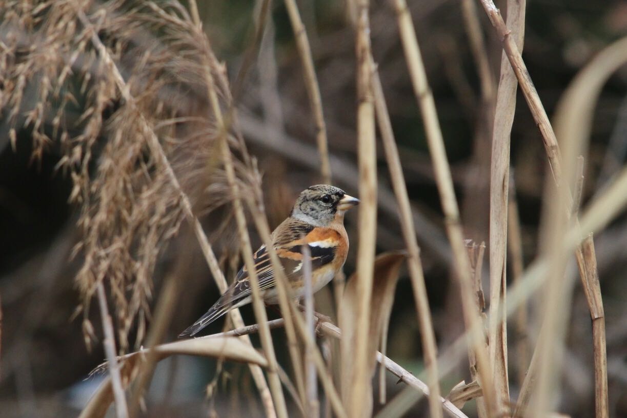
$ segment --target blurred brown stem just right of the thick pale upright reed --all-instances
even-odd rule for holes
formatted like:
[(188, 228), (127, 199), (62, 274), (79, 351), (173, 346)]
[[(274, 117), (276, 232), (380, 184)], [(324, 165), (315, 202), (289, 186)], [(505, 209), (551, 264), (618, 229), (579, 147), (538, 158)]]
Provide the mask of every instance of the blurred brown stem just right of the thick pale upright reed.
[[(507, 247), (512, 265), (512, 281), (515, 284), (520, 282), (524, 268), (522, 258), (522, 237), (520, 235), (520, 218), (518, 205), (516, 203), (516, 189), (514, 186), (514, 176), (510, 176), (510, 191), (508, 193), (508, 213), (507, 213)], [(527, 304), (521, 303), (515, 315), (516, 330), (516, 363), (517, 380), (519, 387), (525, 380), (527, 367), (529, 366), (529, 321), (527, 319)]]

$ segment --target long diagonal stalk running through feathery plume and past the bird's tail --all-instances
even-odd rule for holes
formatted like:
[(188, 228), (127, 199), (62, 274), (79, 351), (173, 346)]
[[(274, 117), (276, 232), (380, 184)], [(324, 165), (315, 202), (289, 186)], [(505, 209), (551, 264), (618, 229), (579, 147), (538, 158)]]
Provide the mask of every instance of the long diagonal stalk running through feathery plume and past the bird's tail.
[[(103, 45), (102, 41), (100, 41), (100, 38), (98, 38), (98, 36), (96, 35), (95, 29), (93, 29), (92, 23), (89, 21), (89, 19), (87, 18), (87, 16), (82, 10), (79, 10), (77, 14), (83, 26), (85, 26), (86, 28), (92, 28), (92, 30), (94, 31), (92, 34), (91, 41), (93, 45), (95, 46), (95, 48), (98, 50), (98, 54), (100, 55), (100, 58), (103, 60), (103, 62), (105, 62), (105, 65), (107, 65), (110, 72), (112, 73), (115, 79), (115, 82), (117, 83), (117, 87), (120, 90), (120, 94), (124, 98), (125, 102), (127, 102), (127, 104), (131, 105), (132, 107), (134, 107), (134, 109), (137, 110), (139, 114), (138, 120), (140, 121), (140, 123), (142, 123), (142, 131), (144, 131), (144, 133), (147, 135), (149, 139), (148, 144), (150, 147), (150, 151), (157, 159), (157, 162), (166, 170), (166, 174), (169, 180), (171, 181), (172, 186), (178, 191), (180, 202), (181, 202), (181, 207), (183, 209), (183, 212), (186, 215), (187, 221), (192, 225), (192, 229), (194, 230), (194, 234), (196, 235), (196, 238), (198, 239), (198, 243), (201, 247), (201, 250), (203, 251), (205, 260), (207, 264), (209, 265), (209, 271), (211, 271), (214, 281), (216, 281), (216, 284), (218, 285), (218, 289), (221, 292), (225, 292), (228, 286), (226, 284), (226, 279), (224, 279), (224, 275), (222, 271), (219, 269), (218, 260), (216, 259), (216, 256), (213, 253), (213, 249), (211, 249), (211, 245), (209, 244), (209, 240), (207, 239), (207, 236), (203, 231), (201, 223), (199, 222), (198, 218), (194, 216), (194, 213), (192, 212), (191, 201), (189, 200), (189, 197), (186, 195), (186, 193), (182, 190), (181, 185), (176, 178), (176, 174), (174, 174), (174, 170), (172, 169), (172, 166), (167, 160), (166, 153), (164, 149), (162, 148), (161, 143), (159, 142), (159, 139), (157, 138), (157, 135), (149, 126), (148, 122), (146, 121), (145, 117), (141, 114), (139, 109), (137, 109), (137, 105), (135, 104), (136, 103), (135, 99), (134, 97), (132, 97), (132, 95), (130, 95), (129, 88), (127, 88), (127, 84), (124, 81), (122, 74), (117, 68), (117, 65), (115, 65), (115, 62), (113, 62), (113, 59), (109, 55), (107, 48), (105, 47), (105, 45)], [(233, 323), (235, 326), (243, 325), (243, 320), (241, 319), (241, 314), (240, 314), (239, 309), (232, 309), (230, 311), (230, 314), (231, 314), (231, 318), (233, 319)], [(250, 339), (246, 338), (246, 340), (250, 344)], [(253, 379), (255, 380), (255, 384), (257, 388), (259, 389), (261, 401), (263, 402), (263, 405), (265, 407), (266, 416), (269, 418), (273, 418), (276, 416), (275, 407), (271, 399), (270, 390), (268, 389), (268, 384), (266, 383), (265, 377), (263, 376), (263, 372), (261, 371), (261, 368), (258, 365), (249, 365), (249, 367), (253, 375)]]

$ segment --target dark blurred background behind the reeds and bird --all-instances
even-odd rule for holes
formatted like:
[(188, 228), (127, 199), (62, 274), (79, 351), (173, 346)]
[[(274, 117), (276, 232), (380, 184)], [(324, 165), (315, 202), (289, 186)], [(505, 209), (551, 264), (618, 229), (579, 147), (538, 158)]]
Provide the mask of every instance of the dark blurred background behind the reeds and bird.
[[(158, 3), (158, 2), (157, 2)], [(505, 2), (497, 1), (505, 11)], [(322, 94), (332, 159), (332, 183), (357, 195), (356, 83), (354, 31), (344, 2), (298, 1), (311, 43)], [(490, 134), (485, 124), (477, 65), (468, 43), (460, 2), (409, 1), (428, 80), (451, 163), (466, 238), (477, 244), (488, 240)], [(199, 4), (203, 27), (214, 54), (226, 65), (233, 85), (255, 34), (258, 10), (251, 1), (211, 0)], [(320, 182), (315, 157), (315, 124), (307, 100), (303, 73), (287, 11), (273, 2), (258, 56), (234, 94), (241, 132), (251, 155), (258, 159), (270, 227), (289, 213), (298, 193)], [(485, 36), (494, 86), (500, 68), (500, 41), (483, 10), (478, 17)], [(0, 19), (2, 19), (0, 17)], [(0, 28), (3, 28), (0, 21)], [(412, 199), (418, 240), (425, 269), (429, 302), (438, 347), (443, 350), (463, 332), (460, 297), (451, 280), (451, 252), (443, 228), (433, 171), (419, 109), (408, 77), (403, 48), (391, 4), (371, 3), (371, 39), (394, 133)], [(565, 88), (581, 68), (604, 46), (627, 33), (627, 3), (618, 0), (534, 0), (527, 4), (523, 57), (549, 116)], [(0, 41), (6, 31), (0, 31)], [(3, 67), (0, 66), (0, 76)], [(586, 160), (584, 202), (602, 190), (625, 163), (627, 155), (627, 68), (621, 69), (603, 89), (595, 110), (589, 157)], [(3, 82), (0, 81), (0, 95)], [(28, 97), (26, 98), (28, 100)], [(189, 97), (189, 100), (194, 100)], [(104, 115), (105, 119), (107, 115)], [(8, 116), (0, 114), (0, 303), (2, 307), (0, 414), (3, 417), (73, 416), (97, 387), (98, 375), (90, 370), (105, 355), (100, 340), (85, 345), (81, 316), (73, 318), (81, 303), (74, 277), (83, 260), (70, 257), (82, 240), (76, 227), (80, 207), (68, 204), (72, 181), (58, 169), (61, 152), (50, 146), (33, 161), (26, 130), (19, 131), (13, 148)], [(377, 252), (402, 249), (396, 202), (380, 142), (379, 215)], [(96, 151), (97, 152), (97, 151)], [(534, 259), (539, 245), (542, 193), (547, 164), (542, 139), (519, 95), (512, 128), (512, 179), (522, 231), (525, 265)], [(208, 232), (218, 230), (223, 213), (203, 217)], [(356, 242), (357, 213), (349, 213), (346, 225)], [(215, 236), (214, 236), (215, 238)], [(610, 414), (627, 417), (627, 217), (624, 215), (595, 237), (607, 326)], [(227, 277), (239, 267), (233, 257), (233, 238), (215, 240), (216, 255)], [(253, 235), (253, 246), (260, 239)], [(235, 247), (236, 248), (236, 247)], [(486, 252), (487, 253), (487, 252)], [(345, 265), (354, 271), (356, 245)], [(484, 266), (484, 274), (488, 271)], [(166, 341), (176, 339), (186, 326), (213, 304), (219, 291), (213, 284), (193, 233), (185, 223), (160, 252), (152, 279), (151, 306), (159, 296), (164, 277), (184, 277), (184, 290), (176, 306)], [(575, 274), (574, 270), (571, 274)], [(564, 357), (560, 410), (573, 417), (594, 414), (591, 324), (581, 285), (577, 280), (571, 324)], [(317, 308), (333, 314), (329, 292), (320, 292)], [(487, 291), (487, 282), (485, 286)], [(529, 304), (530, 321), (536, 323), (537, 307)], [(389, 326), (388, 353), (408, 370), (422, 369), (422, 351), (416, 313), (407, 277), (402, 277)], [(246, 323), (253, 323), (252, 309), (243, 308)], [(272, 318), (277, 314), (269, 311)], [(95, 335), (102, 336), (97, 309)], [(222, 330), (223, 321), (204, 333)], [(514, 328), (510, 328), (513, 330)], [(131, 330), (136, 333), (137, 330)], [(280, 363), (287, 364), (282, 331), (275, 331)], [(510, 385), (517, 394), (517, 352), (521, 338), (510, 332)], [(256, 336), (253, 341), (258, 344)], [(219, 372), (219, 373), (218, 373)], [(460, 380), (468, 379), (467, 362), (443, 380), (446, 394)], [(211, 400), (206, 385), (211, 383)], [(389, 379), (389, 396), (396, 390)], [(211, 360), (172, 358), (160, 363), (147, 398), (147, 416), (251, 416), (263, 414), (258, 402), (244, 394), (255, 392), (245, 365), (216, 365)], [(424, 399), (411, 416), (427, 416)], [(473, 408), (468, 409), (472, 415)], [(239, 412), (236, 412), (239, 411)], [(409, 416), (409, 415), (408, 415)]]

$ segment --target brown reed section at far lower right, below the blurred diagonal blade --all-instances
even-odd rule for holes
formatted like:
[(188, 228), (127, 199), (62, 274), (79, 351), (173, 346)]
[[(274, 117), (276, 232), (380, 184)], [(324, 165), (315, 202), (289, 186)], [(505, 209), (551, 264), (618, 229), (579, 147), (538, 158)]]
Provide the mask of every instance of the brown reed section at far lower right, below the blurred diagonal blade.
[(584, 294), (592, 319), (593, 352), (594, 352), (594, 407), (596, 418), (609, 417), (608, 404), (608, 358), (605, 338), (605, 313), (599, 272), (596, 267), (593, 234), (587, 235), (583, 243), (584, 264), (586, 265), (586, 281), (583, 283)]

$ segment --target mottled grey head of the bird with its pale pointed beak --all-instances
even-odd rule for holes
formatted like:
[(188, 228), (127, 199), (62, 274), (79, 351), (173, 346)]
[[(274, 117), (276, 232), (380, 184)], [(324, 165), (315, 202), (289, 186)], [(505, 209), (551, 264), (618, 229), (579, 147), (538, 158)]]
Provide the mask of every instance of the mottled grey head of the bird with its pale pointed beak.
[(315, 185), (300, 193), (290, 215), (312, 225), (324, 226), (357, 204), (359, 199), (347, 195), (342, 189)]

